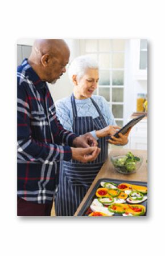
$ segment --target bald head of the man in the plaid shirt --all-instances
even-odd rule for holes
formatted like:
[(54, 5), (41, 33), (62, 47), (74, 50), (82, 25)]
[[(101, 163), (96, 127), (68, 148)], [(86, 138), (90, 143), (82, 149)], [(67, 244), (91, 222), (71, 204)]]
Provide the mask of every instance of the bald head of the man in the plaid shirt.
[(40, 79), (56, 82), (66, 70), (69, 62), (69, 47), (62, 39), (37, 39), (32, 47), (28, 62)]

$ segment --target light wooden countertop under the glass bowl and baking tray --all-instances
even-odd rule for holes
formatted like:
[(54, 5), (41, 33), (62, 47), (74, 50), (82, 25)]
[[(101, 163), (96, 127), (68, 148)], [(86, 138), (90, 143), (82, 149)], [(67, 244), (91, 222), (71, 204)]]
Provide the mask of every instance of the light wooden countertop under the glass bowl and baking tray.
[[(114, 169), (112, 162), (110, 161), (110, 155), (125, 155), (128, 151), (131, 151), (135, 156), (142, 156), (143, 162), (141, 165), (141, 168), (137, 170), (136, 173), (133, 174), (121, 174), (116, 172)], [(86, 193), (83, 201), (81, 202), (79, 208), (77, 209), (75, 216), (80, 212), (81, 208), (83, 207), (86, 199), (88, 198), (90, 192), (92, 191), (94, 185), (96, 185), (97, 181), (100, 180), (100, 178), (112, 178), (117, 180), (126, 180), (126, 181), (145, 181), (147, 182), (147, 151), (140, 151), (140, 150), (129, 150), (129, 149), (112, 149), (110, 151), (108, 159), (105, 161), (104, 165), (102, 165), (102, 168), (100, 169), (100, 172), (97, 174), (96, 178), (94, 179), (92, 185), (90, 186), (88, 192)]]

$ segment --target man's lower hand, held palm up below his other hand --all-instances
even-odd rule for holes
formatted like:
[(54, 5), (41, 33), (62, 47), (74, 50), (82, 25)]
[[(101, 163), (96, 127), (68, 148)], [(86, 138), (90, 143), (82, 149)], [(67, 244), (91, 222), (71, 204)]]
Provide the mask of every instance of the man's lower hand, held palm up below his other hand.
[(89, 148), (71, 148), (72, 159), (80, 162), (94, 161), (100, 153), (100, 148), (89, 147)]

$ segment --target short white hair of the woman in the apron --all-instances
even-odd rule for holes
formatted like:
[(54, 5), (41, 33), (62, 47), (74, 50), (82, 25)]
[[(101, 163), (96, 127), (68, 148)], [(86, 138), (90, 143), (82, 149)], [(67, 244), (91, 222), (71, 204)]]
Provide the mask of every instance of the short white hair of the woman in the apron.
[(98, 70), (98, 63), (88, 55), (81, 55), (72, 60), (68, 67), (68, 76), (72, 81), (73, 75), (76, 75), (78, 79), (82, 78), (88, 68), (94, 68)]

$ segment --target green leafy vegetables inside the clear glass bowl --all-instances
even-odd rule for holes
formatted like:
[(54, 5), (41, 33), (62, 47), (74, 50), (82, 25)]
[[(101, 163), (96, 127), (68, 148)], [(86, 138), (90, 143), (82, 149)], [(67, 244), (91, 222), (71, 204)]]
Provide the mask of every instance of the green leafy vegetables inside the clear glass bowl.
[(139, 157), (134, 156), (131, 152), (128, 152), (124, 157), (114, 159), (113, 164), (122, 172), (130, 173), (136, 169), (136, 164), (138, 161), (140, 161)]

